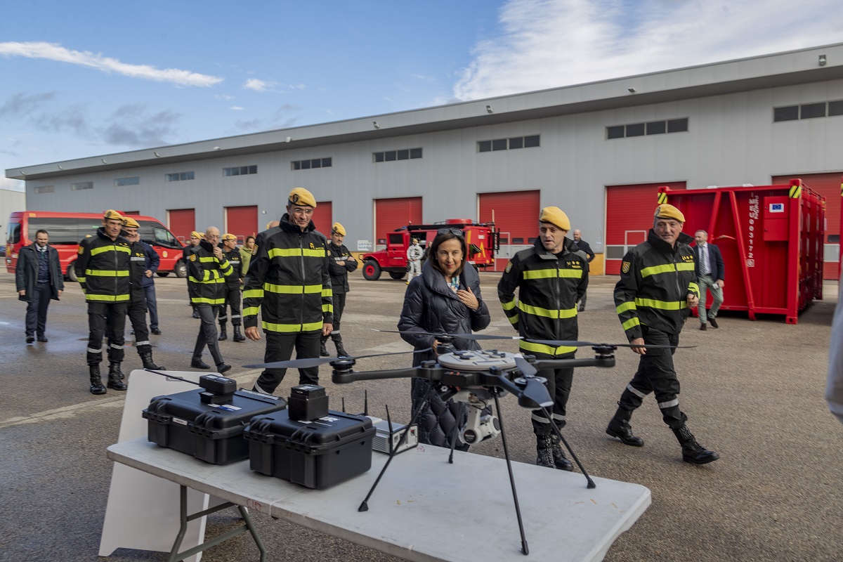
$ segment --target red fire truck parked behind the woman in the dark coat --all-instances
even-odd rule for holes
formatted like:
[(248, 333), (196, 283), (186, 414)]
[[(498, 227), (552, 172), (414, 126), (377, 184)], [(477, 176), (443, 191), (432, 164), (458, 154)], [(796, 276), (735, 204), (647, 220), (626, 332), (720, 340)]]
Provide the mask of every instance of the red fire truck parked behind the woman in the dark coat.
[(413, 238), (418, 238), (423, 249), (436, 238), (442, 228), (454, 228), (462, 231), (469, 254), (467, 262), (475, 268), (491, 267), (495, 264), (500, 231), (495, 230), (494, 222), (473, 222), (470, 218), (449, 218), (438, 224), (408, 224), (386, 233), (386, 248), (377, 252), (363, 254), (363, 278), (377, 281), (383, 271), (393, 279), (403, 279), (407, 273), (407, 249)]

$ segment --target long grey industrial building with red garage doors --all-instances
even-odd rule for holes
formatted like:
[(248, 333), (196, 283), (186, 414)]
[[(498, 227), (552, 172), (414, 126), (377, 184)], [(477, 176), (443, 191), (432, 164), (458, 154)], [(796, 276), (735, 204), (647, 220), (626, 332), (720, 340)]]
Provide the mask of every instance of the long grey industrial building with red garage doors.
[[(245, 236), (314, 193), (322, 232), (352, 250), (408, 223), (494, 221), (499, 263), (560, 206), (617, 273), (642, 241), (658, 186), (787, 184), (826, 198), (825, 273), (836, 279), (843, 174), (843, 43), (666, 72), (6, 170), (31, 211), (115, 208), (176, 236)], [(705, 225), (687, 225), (686, 230)], [(691, 231), (692, 233), (692, 231)], [(500, 268), (499, 268), (500, 269)]]

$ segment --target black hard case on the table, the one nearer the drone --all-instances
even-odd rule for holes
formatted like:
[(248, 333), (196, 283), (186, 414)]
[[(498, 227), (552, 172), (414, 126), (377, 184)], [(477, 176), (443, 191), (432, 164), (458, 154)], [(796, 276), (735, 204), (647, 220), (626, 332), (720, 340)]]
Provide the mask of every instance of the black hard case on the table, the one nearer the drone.
[(244, 437), (255, 472), (323, 490), (372, 468), (372, 420), (328, 410), (313, 421), (287, 410), (253, 419)]

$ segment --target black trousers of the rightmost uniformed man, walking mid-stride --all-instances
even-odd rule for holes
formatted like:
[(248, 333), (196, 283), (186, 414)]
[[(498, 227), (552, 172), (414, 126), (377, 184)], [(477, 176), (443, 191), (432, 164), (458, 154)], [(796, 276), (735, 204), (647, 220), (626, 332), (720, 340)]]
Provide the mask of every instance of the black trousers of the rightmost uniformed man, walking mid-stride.
[[(668, 334), (647, 326), (642, 326), (642, 330), (645, 344), (679, 345), (679, 334)], [(647, 355), (641, 356), (638, 361), (638, 372), (620, 395), (620, 407), (615, 417), (629, 420), (644, 397), (656, 393), (664, 423), (670, 429), (685, 425), (688, 417), (679, 409), (679, 379), (674, 370), (674, 351), (671, 348), (647, 347)]]

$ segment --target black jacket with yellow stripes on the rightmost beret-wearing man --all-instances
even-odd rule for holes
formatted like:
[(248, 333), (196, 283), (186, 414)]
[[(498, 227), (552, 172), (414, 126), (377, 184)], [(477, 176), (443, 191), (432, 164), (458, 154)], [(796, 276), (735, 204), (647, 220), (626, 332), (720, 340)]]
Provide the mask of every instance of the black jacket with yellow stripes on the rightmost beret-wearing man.
[(694, 273), (693, 240), (679, 233), (676, 244), (650, 230), (620, 264), (615, 285), (615, 307), (629, 341), (642, 338), (642, 324), (668, 334), (679, 334), (688, 316), (688, 295), (700, 296)]

